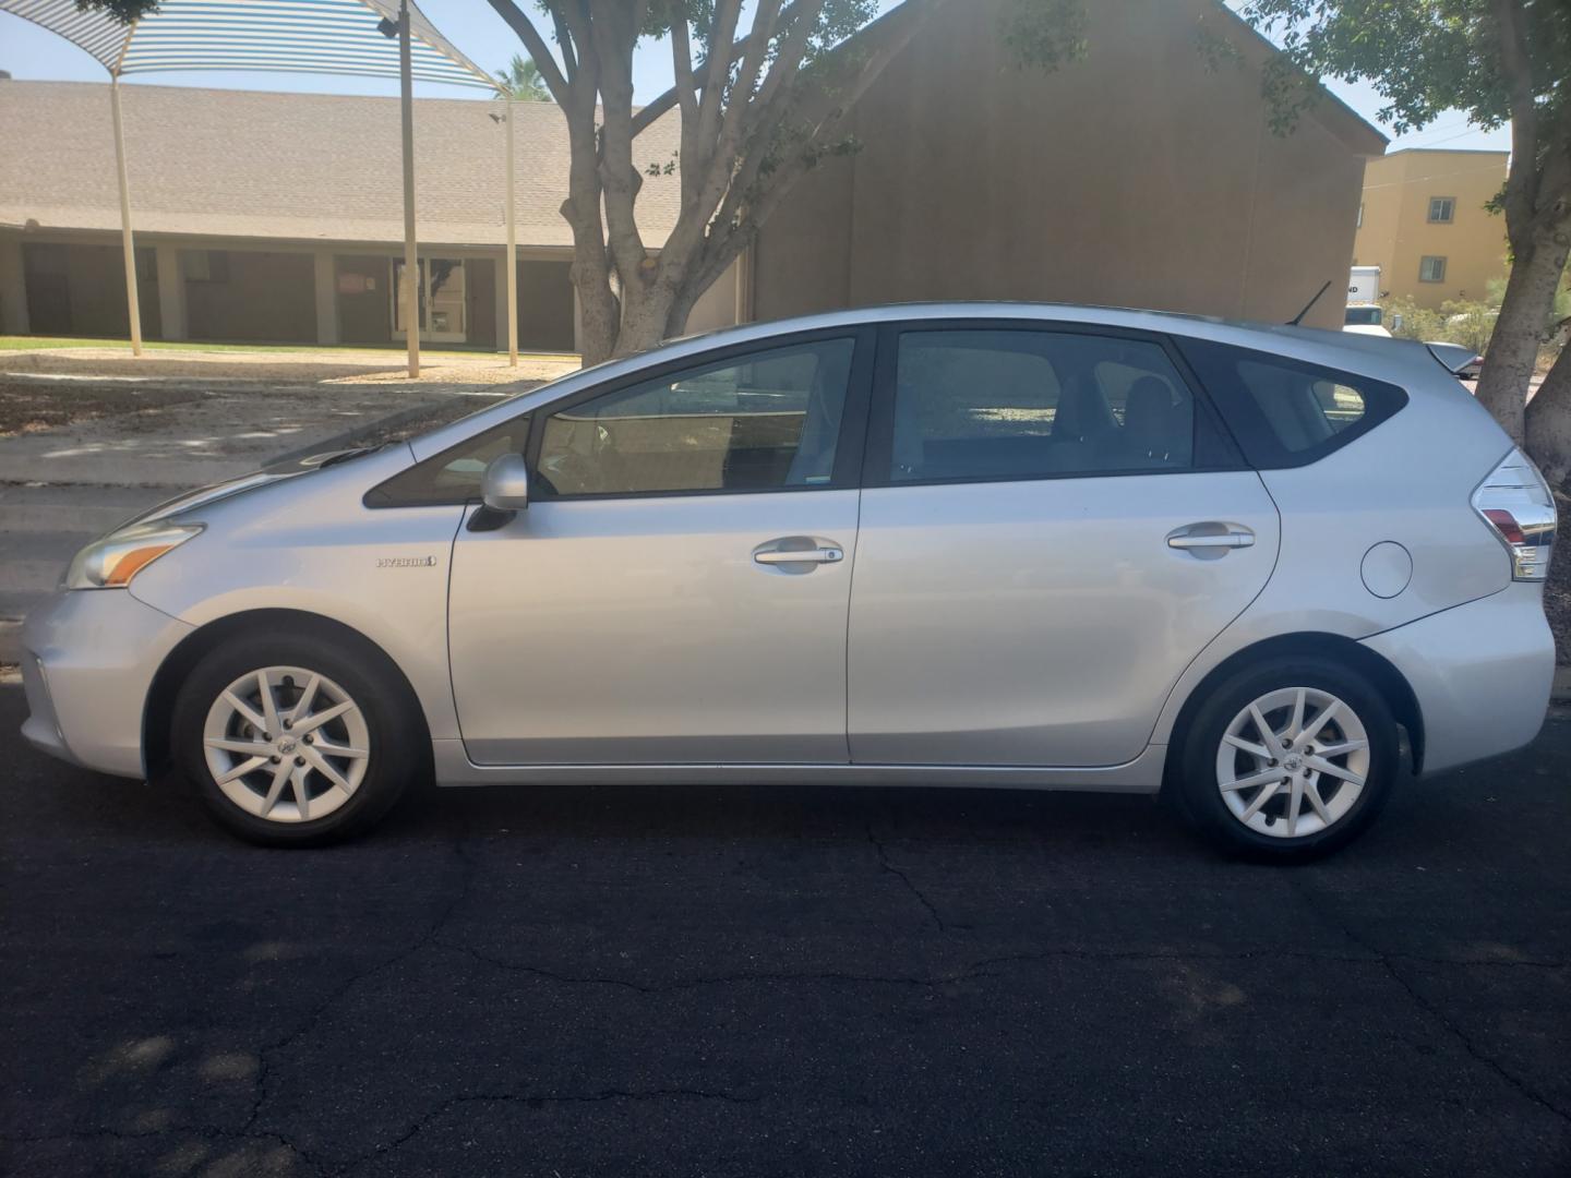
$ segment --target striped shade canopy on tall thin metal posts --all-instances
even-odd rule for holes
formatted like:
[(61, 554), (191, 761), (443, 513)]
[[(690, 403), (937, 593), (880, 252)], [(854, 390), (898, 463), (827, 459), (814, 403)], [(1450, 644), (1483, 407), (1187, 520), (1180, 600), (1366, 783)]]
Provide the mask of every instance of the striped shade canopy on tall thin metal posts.
[(479, 86), (506, 97), (507, 353), (509, 363), (518, 363), (512, 96), (443, 38), (410, 0), (163, 0), (130, 24), (101, 9), (83, 11), (77, 0), (0, 0), (0, 11), (58, 33), (108, 71), (126, 300), (135, 355), (141, 355), (141, 308), (119, 102), (121, 77), (160, 71), (239, 69), (399, 79), (404, 124), (404, 322), (408, 325), (410, 375), (419, 374), (413, 82), (419, 79)]

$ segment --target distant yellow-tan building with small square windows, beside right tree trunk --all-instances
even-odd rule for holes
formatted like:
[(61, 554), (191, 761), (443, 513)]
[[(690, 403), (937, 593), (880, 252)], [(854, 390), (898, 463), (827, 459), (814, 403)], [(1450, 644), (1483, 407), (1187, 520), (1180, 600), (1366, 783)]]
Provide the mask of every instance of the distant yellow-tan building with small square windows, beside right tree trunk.
[(1480, 300), (1505, 275), (1505, 218), (1485, 206), (1505, 187), (1508, 159), (1409, 148), (1370, 160), (1353, 264), (1381, 269), (1381, 297), (1439, 308)]

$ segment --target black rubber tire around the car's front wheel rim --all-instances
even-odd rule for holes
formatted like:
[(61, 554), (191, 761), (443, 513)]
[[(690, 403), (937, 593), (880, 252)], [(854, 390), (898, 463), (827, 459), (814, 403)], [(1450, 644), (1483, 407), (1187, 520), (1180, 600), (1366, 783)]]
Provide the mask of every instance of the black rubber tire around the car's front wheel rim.
[[(313, 671), (335, 682), (358, 705), (364, 721), (369, 737), (364, 776), (347, 801), (320, 818), (286, 823), (250, 814), (225, 795), (207, 765), (204, 729), (209, 708), (242, 675), (273, 666)], [(247, 842), (261, 847), (339, 842), (375, 825), (429, 765), (424, 723), (408, 694), (385, 655), (360, 649), (336, 635), (233, 638), (207, 652), (181, 685), (170, 726), (171, 759), (212, 818)]]

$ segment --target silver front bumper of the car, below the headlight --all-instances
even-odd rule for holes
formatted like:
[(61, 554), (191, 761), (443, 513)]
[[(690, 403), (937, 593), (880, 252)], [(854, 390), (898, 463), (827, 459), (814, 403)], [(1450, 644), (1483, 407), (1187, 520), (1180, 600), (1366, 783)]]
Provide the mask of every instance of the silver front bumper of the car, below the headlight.
[(123, 589), (55, 594), (22, 628), (22, 735), (72, 765), (141, 777), (148, 688), (190, 631)]

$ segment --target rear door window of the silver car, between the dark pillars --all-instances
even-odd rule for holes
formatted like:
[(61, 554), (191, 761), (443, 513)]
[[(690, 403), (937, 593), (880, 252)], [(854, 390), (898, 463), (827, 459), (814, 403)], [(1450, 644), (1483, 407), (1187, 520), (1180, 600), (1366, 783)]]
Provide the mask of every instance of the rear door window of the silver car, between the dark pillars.
[(1155, 342), (1005, 328), (900, 336), (892, 482), (1194, 465), (1194, 397)]

